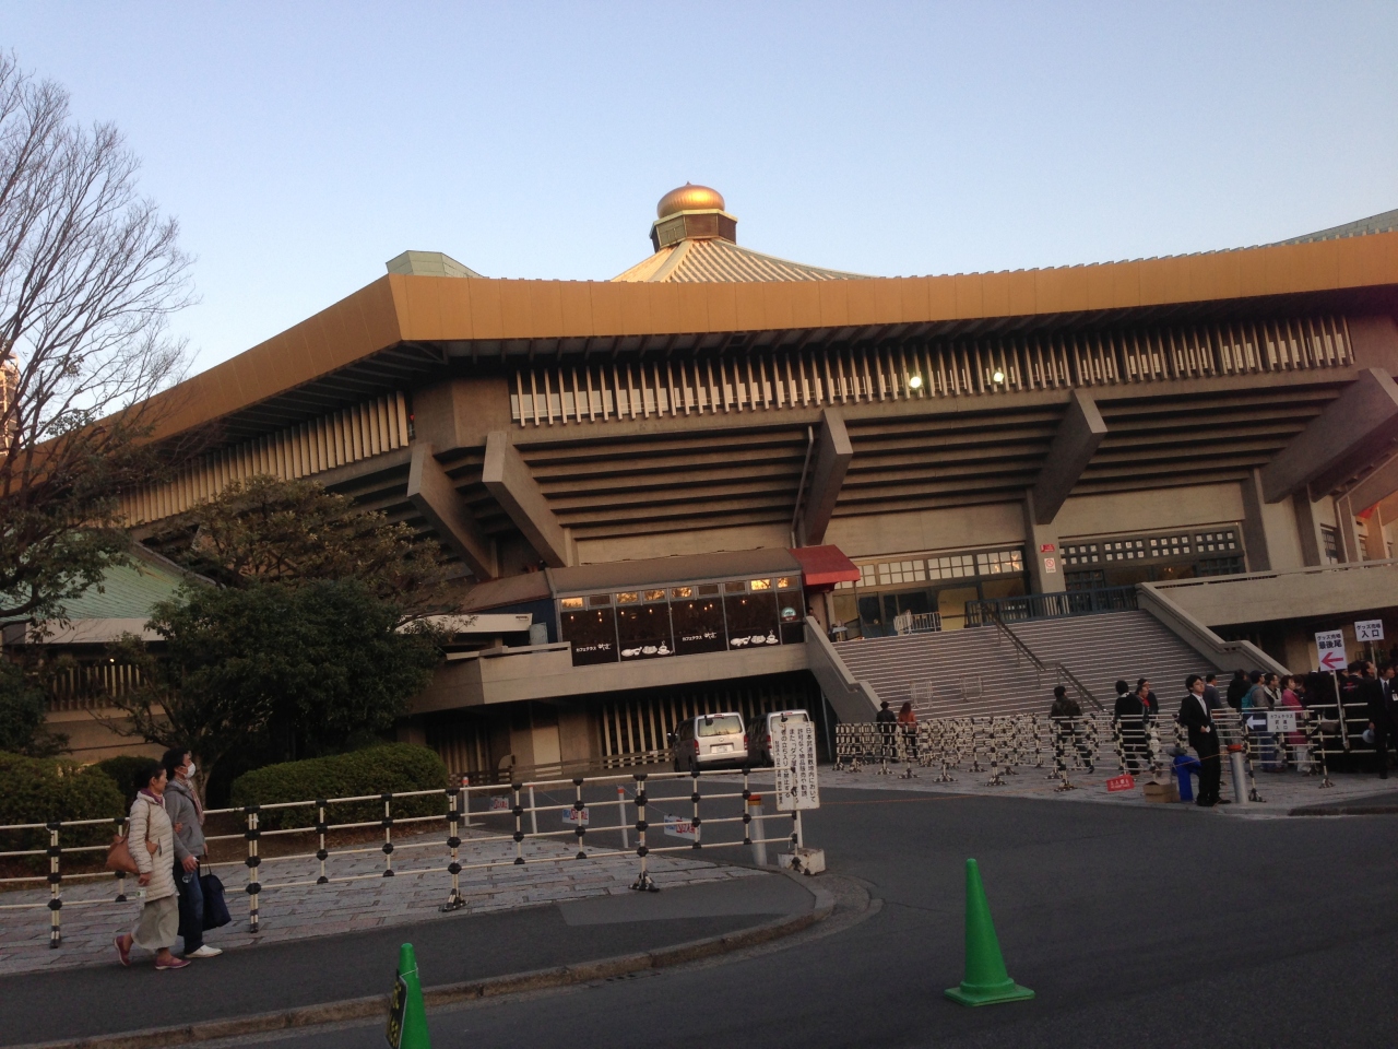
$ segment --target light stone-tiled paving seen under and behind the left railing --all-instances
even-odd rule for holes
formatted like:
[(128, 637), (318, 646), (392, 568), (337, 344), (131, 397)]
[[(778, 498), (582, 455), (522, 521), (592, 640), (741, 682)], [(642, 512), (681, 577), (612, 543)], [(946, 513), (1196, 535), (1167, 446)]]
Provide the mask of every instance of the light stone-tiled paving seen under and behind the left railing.
[[(500, 866), (461, 871), (464, 913), (512, 911), (559, 899), (625, 895), (639, 870), (635, 852), (576, 860), (575, 846), (552, 841), (526, 841), (526, 863), (514, 866), (513, 842), (473, 842), (473, 834), (485, 835), (484, 831), (463, 828), (463, 866), (485, 862)], [(741, 863), (749, 855), (738, 848), (724, 849), (717, 857)], [(384, 878), (383, 853), (377, 845), (368, 843), (354, 855), (331, 856), (329, 873), (333, 880), (317, 885), (315, 881), (320, 867), (315, 857), (264, 857), (260, 869), (264, 891), (259, 899), (257, 936), (247, 932), (247, 895), (243, 891), (247, 884), (246, 867), (242, 863), (215, 864), (214, 873), (224, 881), (233, 922), (210, 933), (208, 943), (224, 948), (284, 943), (383, 929), (436, 916), (450, 890), (442, 835), (396, 836), (393, 862), (397, 873)], [(426, 873), (412, 873), (424, 869)], [(761, 877), (756, 870), (731, 867), (721, 862), (670, 856), (651, 856), (650, 873), (661, 888)], [(299, 884), (275, 888), (282, 883)], [(66, 878), (63, 945), (57, 950), (49, 947), (46, 887), (0, 894), (0, 975), (112, 962), (116, 957), (112, 937), (130, 927), (140, 911), (140, 901), (134, 898), (136, 880), (127, 878), (126, 884), (127, 894), (133, 898), (117, 904), (113, 902), (116, 881), (112, 876), (96, 880)], [(17, 904), (29, 906), (4, 909)]]

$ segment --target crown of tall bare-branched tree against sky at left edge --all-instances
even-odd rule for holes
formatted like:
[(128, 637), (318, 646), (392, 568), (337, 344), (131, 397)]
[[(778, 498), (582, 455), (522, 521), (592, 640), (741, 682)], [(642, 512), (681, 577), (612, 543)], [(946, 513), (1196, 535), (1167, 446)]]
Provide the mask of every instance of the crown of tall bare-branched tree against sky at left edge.
[(183, 376), (179, 225), (137, 192), (112, 124), (0, 55), (0, 617), (62, 615), (122, 558), (116, 492)]

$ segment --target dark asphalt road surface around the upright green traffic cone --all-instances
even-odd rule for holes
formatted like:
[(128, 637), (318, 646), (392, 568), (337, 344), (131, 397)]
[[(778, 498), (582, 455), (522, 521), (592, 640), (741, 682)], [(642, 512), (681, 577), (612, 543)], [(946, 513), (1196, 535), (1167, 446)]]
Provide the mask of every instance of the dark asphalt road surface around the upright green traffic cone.
[[(1398, 817), (822, 793), (808, 841), (868, 885), (867, 920), (758, 957), (439, 1010), (432, 1045), (1398, 1045)], [(962, 975), (967, 856), (1033, 1001), (942, 996)], [(379, 1049), (383, 1034), (275, 1043)]]

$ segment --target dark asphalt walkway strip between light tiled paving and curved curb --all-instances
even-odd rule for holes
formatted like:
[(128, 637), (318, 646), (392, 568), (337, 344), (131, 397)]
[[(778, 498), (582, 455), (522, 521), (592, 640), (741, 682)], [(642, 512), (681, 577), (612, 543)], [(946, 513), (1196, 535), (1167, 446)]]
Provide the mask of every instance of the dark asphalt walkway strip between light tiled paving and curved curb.
[[(705, 937), (741, 939), (748, 934), (740, 930), (761, 933), (756, 927), (773, 920), (812, 915), (815, 904), (812, 891), (797, 878), (744, 871), (744, 877), (657, 894), (626, 891), (475, 916), (419, 913), (414, 926), (263, 943), (180, 972), (155, 972), (148, 962), (123, 969), (112, 951), (110, 964), (99, 968), (0, 976), (0, 1046), (386, 996), (404, 941), (414, 945), (424, 986), (442, 987), (661, 952)], [(383, 1003), (372, 1007), (377, 1015)]]

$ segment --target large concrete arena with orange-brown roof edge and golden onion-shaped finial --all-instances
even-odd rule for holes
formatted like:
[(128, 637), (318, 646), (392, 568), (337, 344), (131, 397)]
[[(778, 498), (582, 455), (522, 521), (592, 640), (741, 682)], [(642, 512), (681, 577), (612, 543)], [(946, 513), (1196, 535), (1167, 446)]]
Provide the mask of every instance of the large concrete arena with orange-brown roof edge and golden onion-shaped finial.
[(1148, 585), (1204, 655), (1304, 663), (1300, 618), (1359, 600), (1314, 569), (1398, 538), (1398, 213), (907, 278), (737, 227), (674, 190), (611, 281), (407, 252), (175, 390), (162, 439), (211, 450), (127, 492), (129, 518), (270, 473), (440, 543), (484, 625), (405, 733), (463, 772), (646, 759), (695, 709), (863, 718), (842, 649), (1032, 615), (1032, 594)]

